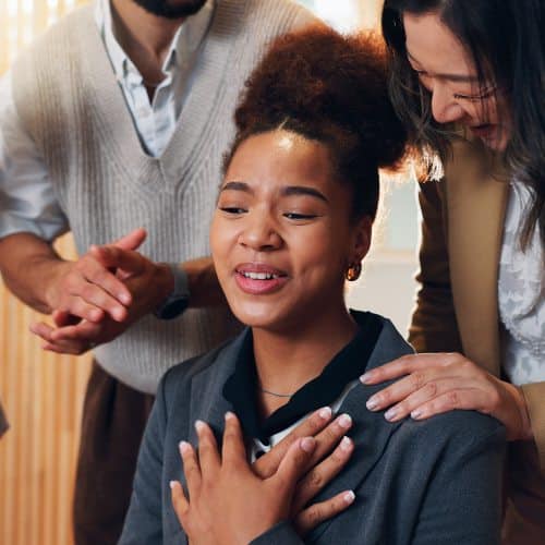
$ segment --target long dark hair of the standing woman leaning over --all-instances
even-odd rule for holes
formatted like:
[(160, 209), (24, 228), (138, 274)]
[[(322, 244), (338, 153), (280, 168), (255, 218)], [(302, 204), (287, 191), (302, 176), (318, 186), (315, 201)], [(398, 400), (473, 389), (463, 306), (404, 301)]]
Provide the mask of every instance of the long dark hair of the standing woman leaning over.
[(504, 161), (530, 189), (521, 242), (538, 226), (545, 246), (545, 2), (543, 0), (386, 0), (383, 33), (389, 50), (389, 90), (410, 138), (449, 159), (452, 128), (437, 123), (431, 94), (407, 59), (403, 14), (436, 13), (467, 48), (480, 83), (493, 82), (509, 108), (511, 134)]

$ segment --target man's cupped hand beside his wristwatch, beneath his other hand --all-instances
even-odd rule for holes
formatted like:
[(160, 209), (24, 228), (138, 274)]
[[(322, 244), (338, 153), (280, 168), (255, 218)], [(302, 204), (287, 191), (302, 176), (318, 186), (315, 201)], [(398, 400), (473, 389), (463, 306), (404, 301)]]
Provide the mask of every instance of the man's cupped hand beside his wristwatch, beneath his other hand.
[(92, 246), (89, 255), (105, 270), (114, 270), (116, 279), (128, 290), (131, 303), (121, 320), (105, 315), (98, 322), (81, 319), (66, 311), (56, 311), (56, 327), (34, 324), (31, 330), (41, 337), (43, 348), (52, 352), (82, 354), (90, 348), (109, 342), (134, 322), (153, 312), (173, 289), (170, 268), (157, 264), (137, 252), (116, 245)]

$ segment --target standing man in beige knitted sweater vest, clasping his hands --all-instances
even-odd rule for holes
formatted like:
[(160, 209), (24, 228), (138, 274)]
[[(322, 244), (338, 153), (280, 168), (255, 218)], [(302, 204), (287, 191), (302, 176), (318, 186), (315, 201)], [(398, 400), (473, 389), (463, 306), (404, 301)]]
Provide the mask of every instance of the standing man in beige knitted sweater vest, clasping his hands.
[[(206, 257), (221, 156), (266, 45), (313, 21), (291, 0), (96, 0), (0, 81), (2, 276), (26, 304), (55, 311), (58, 326), (77, 322), (35, 325), (47, 348), (96, 346), (74, 501), (78, 545), (119, 537), (162, 373), (238, 329)], [(68, 230), (76, 262), (51, 246)], [(119, 262), (92, 247), (111, 241), (146, 257), (129, 252)]]

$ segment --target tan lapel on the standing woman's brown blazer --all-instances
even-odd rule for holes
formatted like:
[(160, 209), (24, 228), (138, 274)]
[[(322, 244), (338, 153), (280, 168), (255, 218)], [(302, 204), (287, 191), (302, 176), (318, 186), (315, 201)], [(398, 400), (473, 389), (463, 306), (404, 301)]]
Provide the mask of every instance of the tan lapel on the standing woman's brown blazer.
[(498, 263), (509, 184), (505, 171), (483, 162), (474, 146), (455, 145), (446, 169), (449, 266), (464, 353), (498, 375)]

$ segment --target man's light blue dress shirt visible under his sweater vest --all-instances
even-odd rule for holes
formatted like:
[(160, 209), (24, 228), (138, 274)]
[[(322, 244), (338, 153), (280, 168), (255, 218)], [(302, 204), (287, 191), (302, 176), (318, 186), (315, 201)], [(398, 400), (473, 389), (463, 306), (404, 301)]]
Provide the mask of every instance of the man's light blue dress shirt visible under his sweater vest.
[[(165, 58), (165, 78), (150, 101), (141, 73), (114, 36), (110, 0), (96, 1), (97, 28), (142, 146), (153, 157), (161, 155), (174, 132), (213, 14), (214, 0), (208, 0), (180, 26)], [(0, 80), (0, 238), (31, 232), (50, 241), (69, 229), (44, 159), (19, 119), (7, 72)]]

